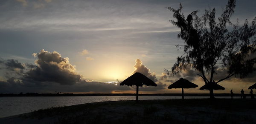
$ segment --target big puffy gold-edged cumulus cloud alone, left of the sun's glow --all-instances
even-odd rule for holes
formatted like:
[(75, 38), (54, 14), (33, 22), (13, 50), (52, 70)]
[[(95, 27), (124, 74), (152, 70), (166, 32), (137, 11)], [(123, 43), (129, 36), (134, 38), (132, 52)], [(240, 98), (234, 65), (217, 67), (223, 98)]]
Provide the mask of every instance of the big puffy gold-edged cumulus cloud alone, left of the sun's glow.
[(37, 67), (29, 70), (23, 79), (33, 79), (38, 82), (57, 82), (61, 85), (73, 85), (79, 82), (81, 75), (76, 73), (76, 68), (69, 63), (68, 58), (61, 57), (56, 51), (41, 50), (34, 54), (38, 59)]

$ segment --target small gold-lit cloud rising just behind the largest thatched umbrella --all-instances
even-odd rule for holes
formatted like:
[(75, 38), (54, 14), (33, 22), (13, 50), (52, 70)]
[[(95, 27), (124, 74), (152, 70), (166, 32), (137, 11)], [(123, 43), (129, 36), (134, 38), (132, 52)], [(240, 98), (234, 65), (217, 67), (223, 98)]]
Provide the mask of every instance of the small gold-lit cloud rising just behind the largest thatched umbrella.
[(140, 59), (136, 59), (135, 62), (136, 62), (136, 64), (134, 65), (135, 70), (133, 73), (140, 72), (140, 73), (144, 74), (145, 76), (147, 76), (152, 81), (154, 81), (154, 82), (157, 81), (155, 72), (153, 72), (153, 73), (149, 72), (150, 69), (148, 69), (145, 65), (143, 65), (142, 61)]

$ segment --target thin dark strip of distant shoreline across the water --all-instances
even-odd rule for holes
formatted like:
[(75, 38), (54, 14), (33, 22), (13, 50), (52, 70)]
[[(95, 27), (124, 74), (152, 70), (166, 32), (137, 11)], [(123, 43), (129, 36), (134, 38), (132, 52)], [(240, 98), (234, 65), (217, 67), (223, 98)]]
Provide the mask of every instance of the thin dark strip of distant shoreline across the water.
[[(245, 94), (250, 96), (250, 94)], [(9, 96), (136, 96), (135, 93), (0, 93), (0, 97)], [(181, 96), (181, 93), (155, 93), (155, 94), (139, 94), (139, 96)], [(184, 93), (184, 96), (209, 96), (209, 93)], [(215, 93), (214, 96), (230, 96), (230, 93)], [(241, 96), (239, 93), (234, 93), (233, 96)]]

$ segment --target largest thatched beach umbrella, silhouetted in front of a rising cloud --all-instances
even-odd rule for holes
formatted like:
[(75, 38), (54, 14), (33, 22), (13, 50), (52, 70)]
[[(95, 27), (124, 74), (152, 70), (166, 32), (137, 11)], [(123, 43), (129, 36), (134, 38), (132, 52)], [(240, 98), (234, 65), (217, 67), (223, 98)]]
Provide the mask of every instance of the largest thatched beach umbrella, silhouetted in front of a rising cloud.
[(138, 102), (139, 98), (139, 86), (142, 87), (142, 85), (147, 85), (147, 86), (157, 86), (156, 83), (154, 83), (151, 79), (147, 78), (145, 75), (136, 72), (133, 75), (129, 76), (127, 79), (122, 81), (120, 85), (136, 85), (136, 102)]

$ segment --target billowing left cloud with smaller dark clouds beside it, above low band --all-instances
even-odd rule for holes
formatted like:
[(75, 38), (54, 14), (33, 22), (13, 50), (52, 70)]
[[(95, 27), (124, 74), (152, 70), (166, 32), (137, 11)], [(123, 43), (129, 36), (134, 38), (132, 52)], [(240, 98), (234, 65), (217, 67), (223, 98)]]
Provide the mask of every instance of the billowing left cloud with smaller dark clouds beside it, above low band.
[(81, 75), (76, 73), (76, 68), (69, 63), (69, 59), (61, 57), (58, 52), (41, 50), (33, 55), (37, 57), (36, 65), (21, 64), (14, 59), (0, 59), (0, 64), (5, 69), (7, 82), (8, 79), (15, 78), (21, 80), (25, 85), (44, 85), (46, 82), (73, 85), (81, 80)]

